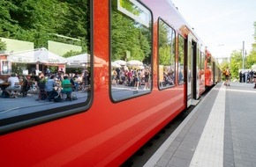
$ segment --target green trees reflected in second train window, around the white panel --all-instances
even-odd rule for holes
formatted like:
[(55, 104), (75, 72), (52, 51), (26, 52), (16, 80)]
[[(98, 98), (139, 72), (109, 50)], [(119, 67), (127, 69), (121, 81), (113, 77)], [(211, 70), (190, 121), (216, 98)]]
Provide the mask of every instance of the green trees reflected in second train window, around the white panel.
[[(130, 1), (122, 0), (120, 4), (133, 15), (143, 12)], [(150, 28), (118, 11), (117, 1), (111, 1), (111, 8), (111, 60), (151, 62)], [(126, 57), (127, 51), (131, 53), (130, 58)]]

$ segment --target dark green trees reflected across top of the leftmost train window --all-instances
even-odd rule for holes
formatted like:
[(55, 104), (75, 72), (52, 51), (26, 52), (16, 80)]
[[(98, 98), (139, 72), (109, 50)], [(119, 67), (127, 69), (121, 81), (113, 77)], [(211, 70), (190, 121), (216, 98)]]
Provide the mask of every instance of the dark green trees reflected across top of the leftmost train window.
[(47, 47), (48, 40), (55, 40), (79, 45), (88, 51), (89, 5), (88, 0), (1, 0), (0, 36), (31, 41), (34, 47)]

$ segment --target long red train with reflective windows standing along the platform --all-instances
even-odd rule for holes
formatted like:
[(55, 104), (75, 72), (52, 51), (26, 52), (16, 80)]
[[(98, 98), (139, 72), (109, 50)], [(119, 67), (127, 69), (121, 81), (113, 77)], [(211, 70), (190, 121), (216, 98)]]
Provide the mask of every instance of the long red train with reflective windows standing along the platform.
[[(24, 51), (1, 54), (1, 75), (17, 64), (28, 74), (72, 73), (78, 100), (1, 98), (1, 166), (119, 166), (218, 81), (217, 62), (169, 0), (43, 2), (26, 15), (11, 11), (29, 38), (0, 27), (5, 50), (18, 49), (11, 41)], [(67, 62), (33, 62), (29, 46)]]

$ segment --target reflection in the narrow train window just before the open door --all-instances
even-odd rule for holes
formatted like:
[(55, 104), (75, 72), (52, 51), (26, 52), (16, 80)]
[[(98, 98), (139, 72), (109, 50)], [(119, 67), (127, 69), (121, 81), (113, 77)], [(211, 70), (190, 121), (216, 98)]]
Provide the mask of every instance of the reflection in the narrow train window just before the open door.
[(178, 35), (178, 62), (177, 62), (177, 74), (178, 84), (184, 83), (184, 38)]

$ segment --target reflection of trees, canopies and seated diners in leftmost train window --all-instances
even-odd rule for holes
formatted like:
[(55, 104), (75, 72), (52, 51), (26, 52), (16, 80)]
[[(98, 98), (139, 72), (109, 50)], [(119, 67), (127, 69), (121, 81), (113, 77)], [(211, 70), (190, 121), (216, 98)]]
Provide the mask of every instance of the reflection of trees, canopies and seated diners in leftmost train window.
[(27, 119), (47, 120), (50, 115), (53, 119), (87, 106), (89, 2), (6, 4), (0, 25), (0, 127)]

